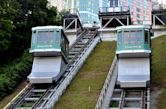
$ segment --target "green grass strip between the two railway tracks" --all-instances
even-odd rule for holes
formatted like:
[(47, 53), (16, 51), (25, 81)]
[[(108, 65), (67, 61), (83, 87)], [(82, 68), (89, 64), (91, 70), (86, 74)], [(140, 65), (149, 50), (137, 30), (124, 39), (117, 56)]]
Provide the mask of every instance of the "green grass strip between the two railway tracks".
[(54, 109), (95, 108), (115, 55), (115, 46), (115, 42), (97, 45)]

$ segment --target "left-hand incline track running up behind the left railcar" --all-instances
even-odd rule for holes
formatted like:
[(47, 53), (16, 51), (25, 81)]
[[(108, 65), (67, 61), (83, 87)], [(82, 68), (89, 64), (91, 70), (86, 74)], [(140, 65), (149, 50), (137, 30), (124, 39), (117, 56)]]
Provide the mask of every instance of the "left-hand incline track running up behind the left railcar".
[[(70, 83), (71, 79), (66, 79), (73, 72), (78, 71), (77, 64), (80, 63), (81, 57), (85, 54), (85, 50), (95, 41), (97, 30), (86, 29), (69, 50), (69, 62), (67, 70), (58, 82), (53, 84), (28, 84), (4, 109), (45, 109), (50, 108), (58, 101), (62, 91)], [(80, 67), (81, 65), (79, 65)], [(62, 83), (69, 81), (65, 88)], [(62, 85), (61, 85), (62, 84)], [(56, 95), (56, 97), (55, 97)], [(57, 98), (57, 99), (55, 99)], [(50, 103), (51, 102), (51, 103)]]

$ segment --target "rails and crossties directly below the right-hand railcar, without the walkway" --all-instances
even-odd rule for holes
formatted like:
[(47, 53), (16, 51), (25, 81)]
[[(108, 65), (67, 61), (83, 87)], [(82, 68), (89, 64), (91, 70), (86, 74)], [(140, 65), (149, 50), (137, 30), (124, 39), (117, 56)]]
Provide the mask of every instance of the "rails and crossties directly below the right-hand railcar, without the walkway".
[(115, 88), (109, 109), (149, 109), (149, 89)]

